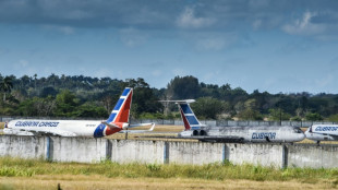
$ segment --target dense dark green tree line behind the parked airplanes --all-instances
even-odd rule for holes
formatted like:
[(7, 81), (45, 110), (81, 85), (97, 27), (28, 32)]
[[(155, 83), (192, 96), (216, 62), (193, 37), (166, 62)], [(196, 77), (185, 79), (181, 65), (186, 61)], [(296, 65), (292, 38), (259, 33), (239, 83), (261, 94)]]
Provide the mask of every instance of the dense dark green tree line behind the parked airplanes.
[(270, 94), (241, 87), (205, 84), (197, 78), (176, 76), (167, 87), (155, 88), (142, 78), (124, 81), (84, 75), (47, 78), (0, 74), (0, 115), (23, 117), (106, 118), (125, 86), (134, 87), (133, 118), (179, 118), (176, 105), (159, 99), (196, 99), (201, 119), (330, 120), (338, 121), (337, 94)]

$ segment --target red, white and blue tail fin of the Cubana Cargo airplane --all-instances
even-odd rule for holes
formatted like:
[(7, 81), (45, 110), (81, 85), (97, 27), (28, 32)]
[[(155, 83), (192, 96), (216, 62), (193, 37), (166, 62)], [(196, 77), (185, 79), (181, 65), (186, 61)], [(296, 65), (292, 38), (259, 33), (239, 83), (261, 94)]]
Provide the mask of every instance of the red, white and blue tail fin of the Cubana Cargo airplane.
[(125, 87), (117, 105), (112, 109), (107, 123), (129, 122), (130, 108), (132, 105), (133, 88)]

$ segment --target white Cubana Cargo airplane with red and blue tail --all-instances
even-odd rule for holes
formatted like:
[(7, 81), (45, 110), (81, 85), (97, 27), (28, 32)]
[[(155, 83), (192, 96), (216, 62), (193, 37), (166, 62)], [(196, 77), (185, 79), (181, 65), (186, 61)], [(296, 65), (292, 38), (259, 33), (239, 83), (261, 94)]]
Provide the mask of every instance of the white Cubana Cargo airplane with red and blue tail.
[(102, 138), (129, 128), (150, 126), (153, 131), (155, 123), (129, 124), (129, 115), (132, 104), (133, 88), (125, 87), (109, 118), (105, 121), (90, 120), (37, 120), (19, 119), (5, 124), (4, 134), (14, 135), (60, 135), (60, 136), (94, 136)]

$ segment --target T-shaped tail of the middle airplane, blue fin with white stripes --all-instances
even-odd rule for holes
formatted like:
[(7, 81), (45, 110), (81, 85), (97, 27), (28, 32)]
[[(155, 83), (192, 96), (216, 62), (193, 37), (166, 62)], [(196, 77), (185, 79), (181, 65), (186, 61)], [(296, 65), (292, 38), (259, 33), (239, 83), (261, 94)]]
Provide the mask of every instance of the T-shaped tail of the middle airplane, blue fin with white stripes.
[(201, 129), (205, 124), (202, 124), (193, 110), (190, 107), (191, 103), (194, 103), (194, 99), (185, 99), (185, 100), (161, 100), (167, 103), (176, 103), (179, 105), (179, 110), (184, 123), (185, 131)]

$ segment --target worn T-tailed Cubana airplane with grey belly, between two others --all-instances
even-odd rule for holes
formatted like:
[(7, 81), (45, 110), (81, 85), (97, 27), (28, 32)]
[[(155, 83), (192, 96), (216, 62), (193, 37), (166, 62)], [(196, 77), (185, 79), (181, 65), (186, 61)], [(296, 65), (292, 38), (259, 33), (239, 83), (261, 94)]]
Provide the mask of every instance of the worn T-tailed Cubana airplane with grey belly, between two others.
[(292, 143), (305, 139), (298, 127), (206, 127), (202, 124), (190, 107), (194, 99), (161, 100), (179, 105), (184, 123), (184, 131), (178, 133), (179, 139), (195, 139), (202, 142), (239, 142), (239, 143)]

